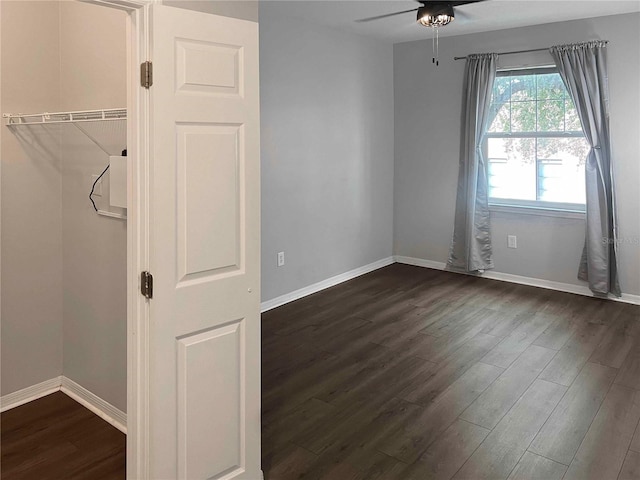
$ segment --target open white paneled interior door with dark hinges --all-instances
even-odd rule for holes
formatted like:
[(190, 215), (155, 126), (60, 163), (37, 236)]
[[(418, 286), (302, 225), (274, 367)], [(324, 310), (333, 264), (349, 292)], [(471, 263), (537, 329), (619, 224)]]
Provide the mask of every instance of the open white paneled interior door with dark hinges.
[(258, 25), (152, 7), (149, 472), (259, 479)]

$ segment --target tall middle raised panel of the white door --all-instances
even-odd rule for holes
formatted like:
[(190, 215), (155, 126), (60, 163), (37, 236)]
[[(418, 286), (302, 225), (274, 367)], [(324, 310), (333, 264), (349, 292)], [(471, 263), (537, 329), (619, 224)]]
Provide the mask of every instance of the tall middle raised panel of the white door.
[(242, 125), (177, 125), (179, 281), (242, 272)]

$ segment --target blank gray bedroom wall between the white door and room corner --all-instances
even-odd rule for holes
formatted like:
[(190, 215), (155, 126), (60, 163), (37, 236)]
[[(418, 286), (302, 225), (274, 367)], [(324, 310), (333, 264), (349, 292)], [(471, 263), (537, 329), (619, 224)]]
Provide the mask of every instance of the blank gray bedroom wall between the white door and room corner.
[(260, 6), (263, 301), (393, 242), (392, 46), (281, 12)]

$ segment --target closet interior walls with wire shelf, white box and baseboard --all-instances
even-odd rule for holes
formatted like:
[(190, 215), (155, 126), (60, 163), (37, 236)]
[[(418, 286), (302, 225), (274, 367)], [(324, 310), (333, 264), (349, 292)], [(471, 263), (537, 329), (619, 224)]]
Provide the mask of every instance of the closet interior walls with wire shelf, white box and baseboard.
[(126, 13), (3, 1), (3, 411), (62, 389), (126, 430)]

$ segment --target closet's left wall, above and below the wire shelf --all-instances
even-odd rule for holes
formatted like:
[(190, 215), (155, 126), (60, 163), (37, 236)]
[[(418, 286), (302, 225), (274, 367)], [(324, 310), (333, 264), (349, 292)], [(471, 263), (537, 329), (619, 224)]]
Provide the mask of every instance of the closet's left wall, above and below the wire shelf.
[[(57, 3), (0, 2), (3, 113), (59, 109), (58, 12)], [(38, 142), (33, 129), (15, 132), (3, 121), (2, 395), (62, 373), (59, 131), (40, 128)]]

